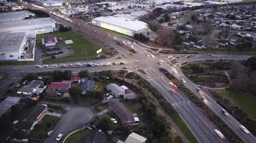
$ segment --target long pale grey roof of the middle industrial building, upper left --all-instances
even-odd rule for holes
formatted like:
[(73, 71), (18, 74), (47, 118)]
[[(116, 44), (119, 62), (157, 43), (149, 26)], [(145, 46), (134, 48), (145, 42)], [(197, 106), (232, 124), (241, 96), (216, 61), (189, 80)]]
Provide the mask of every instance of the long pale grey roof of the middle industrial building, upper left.
[(50, 17), (38, 18), (38, 19), (24, 19), (21, 21), (6, 21), (0, 23), (1, 29), (8, 29), (12, 31), (12, 27), (22, 27), (22, 26), (33, 26), (33, 25), (43, 25), (43, 24), (55, 24), (55, 20)]

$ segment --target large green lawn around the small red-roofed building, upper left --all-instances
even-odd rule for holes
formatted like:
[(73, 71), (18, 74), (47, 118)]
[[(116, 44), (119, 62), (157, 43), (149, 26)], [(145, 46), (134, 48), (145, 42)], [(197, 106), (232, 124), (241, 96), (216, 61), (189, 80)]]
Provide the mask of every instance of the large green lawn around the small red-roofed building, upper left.
[[(72, 46), (75, 54), (73, 56), (67, 56), (58, 59), (45, 59), (44, 63), (53, 63), (53, 62), (64, 62), (64, 61), (78, 61), (78, 60), (86, 60), (86, 59), (95, 59), (96, 58), (96, 50), (97, 47), (88, 39), (85, 39), (82, 35), (76, 34), (73, 31), (65, 31), (65, 32), (52, 32), (49, 34), (39, 34), (37, 35), (37, 46), (40, 45), (41, 39), (43, 36), (52, 35), (56, 36), (58, 39), (62, 38), (63, 41), (59, 40), (60, 47), (61, 46)], [(72, 40), (73, 44), (65, 44), (65, 40)]]

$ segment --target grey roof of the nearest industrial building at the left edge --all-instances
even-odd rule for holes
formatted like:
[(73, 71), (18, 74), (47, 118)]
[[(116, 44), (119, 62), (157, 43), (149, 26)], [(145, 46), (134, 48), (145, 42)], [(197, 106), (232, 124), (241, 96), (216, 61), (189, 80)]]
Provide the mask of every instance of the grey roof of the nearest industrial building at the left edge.
[(0, 34), (0, 53), (19, 51), (26, 32)]

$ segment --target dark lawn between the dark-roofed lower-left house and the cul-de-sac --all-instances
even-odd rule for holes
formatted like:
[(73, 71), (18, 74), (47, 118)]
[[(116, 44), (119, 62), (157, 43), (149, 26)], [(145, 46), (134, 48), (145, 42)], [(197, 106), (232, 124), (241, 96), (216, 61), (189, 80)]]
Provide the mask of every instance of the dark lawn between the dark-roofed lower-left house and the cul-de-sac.
[(35, 126), (35, 129), (33, 129), (32, 132), (29, 134), (29, 138), (42, 139), (42, 137), (47, 134), (48, 130), (56, 119), (58, 119), (58, 117), (45, 115), (45, 117), (42, 119), (42, 122), (40, 124), (37, 124)]

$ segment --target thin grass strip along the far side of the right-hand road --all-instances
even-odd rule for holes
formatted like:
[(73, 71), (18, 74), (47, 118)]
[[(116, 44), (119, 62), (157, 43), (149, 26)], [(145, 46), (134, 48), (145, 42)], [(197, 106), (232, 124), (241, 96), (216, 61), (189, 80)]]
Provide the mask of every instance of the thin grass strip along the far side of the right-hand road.
[(196, 51), (198, 54), (241, 54), (241, 55), (252, 55), (256, 56), (256, 50), (244, 50), (244, 51), (238, 51), (238, 50), (221, 50), (221, 49), (214, 49), (214, 50), (191, 50)]

